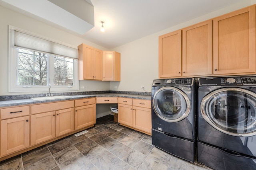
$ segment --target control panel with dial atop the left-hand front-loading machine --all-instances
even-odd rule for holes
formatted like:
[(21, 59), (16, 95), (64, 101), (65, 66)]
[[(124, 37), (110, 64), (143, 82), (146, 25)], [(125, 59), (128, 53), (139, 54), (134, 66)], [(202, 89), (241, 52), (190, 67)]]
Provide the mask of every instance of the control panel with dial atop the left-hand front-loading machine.
[(153, 86), (192, 86), (194, 78), (169, 78), (153, 81)]

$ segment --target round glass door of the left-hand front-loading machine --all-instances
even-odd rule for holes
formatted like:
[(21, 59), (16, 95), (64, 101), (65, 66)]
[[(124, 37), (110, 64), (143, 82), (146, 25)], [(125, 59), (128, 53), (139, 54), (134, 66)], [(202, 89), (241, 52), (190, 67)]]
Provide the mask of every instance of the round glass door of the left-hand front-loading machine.
[(163, 87), (154, 94), (152, 105), (155, 113), (168, 122), (185, 119), (190, 111), (188, 96), (178, 88)]

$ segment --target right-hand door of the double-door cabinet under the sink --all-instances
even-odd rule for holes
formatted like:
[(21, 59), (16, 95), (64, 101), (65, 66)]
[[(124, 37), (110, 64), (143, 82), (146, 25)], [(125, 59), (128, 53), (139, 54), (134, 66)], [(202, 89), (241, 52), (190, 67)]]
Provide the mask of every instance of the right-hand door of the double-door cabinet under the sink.
[(56, 116), (56, 137), (74, 131), (74, 108), (58, 110)]

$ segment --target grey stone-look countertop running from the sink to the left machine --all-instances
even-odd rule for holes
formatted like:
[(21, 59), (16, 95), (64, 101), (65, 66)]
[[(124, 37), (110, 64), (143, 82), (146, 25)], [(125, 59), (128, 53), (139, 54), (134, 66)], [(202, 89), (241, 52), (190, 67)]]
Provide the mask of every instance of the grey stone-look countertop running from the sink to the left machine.
[(123, 98), (151, 100), (151, 95), (125, 94), (125, 93), (124, 94), (122, 94), (122, 93), (102, 93), (102, 94), (65, 95), (65, 96), (70, 96), (71, 98), (62, 98), (62, 99), (54, 99), (54, 100), (40, 100), (40, 101), (34, 101), (30, 98), (16, 99), (16, 100), (4, 100), (4, 101), (0, 101), (0, 107), (19, 106), (19, 105), (27, 105), (27, 104), (40, 104), (40, 103), (47, 103), (47, 102), (58, 102), (58, 101), (65, 101), (65, 100), (76, 100), (76, 99), (94, 98), (94, 97), (123, 97)]

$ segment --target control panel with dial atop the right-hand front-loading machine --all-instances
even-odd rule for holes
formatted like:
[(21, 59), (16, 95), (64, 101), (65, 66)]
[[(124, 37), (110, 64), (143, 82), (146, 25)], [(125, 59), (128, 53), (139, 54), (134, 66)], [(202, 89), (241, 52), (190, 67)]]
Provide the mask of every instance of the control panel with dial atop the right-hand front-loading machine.
[(256, 76), (198, 78), (199, 86), (256, 86)]

